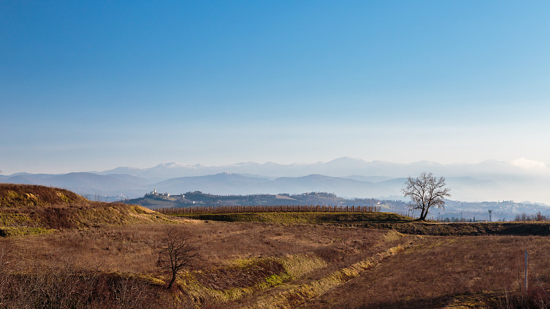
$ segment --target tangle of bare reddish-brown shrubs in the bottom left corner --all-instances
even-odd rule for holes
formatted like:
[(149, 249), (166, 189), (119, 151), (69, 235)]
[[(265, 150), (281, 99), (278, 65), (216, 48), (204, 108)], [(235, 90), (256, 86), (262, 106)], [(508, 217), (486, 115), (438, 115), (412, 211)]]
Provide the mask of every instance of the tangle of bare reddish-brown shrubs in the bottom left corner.
[(1, 308), (166, 308), (162, 288), (130, 275), (78, 270), (68, 258), (50, 265), (18, 263), (0, 242)]

